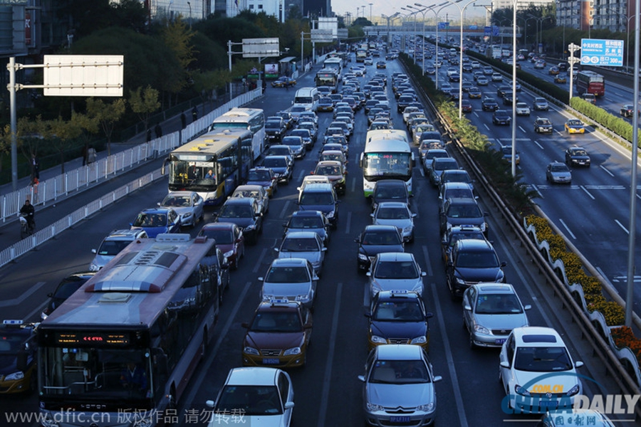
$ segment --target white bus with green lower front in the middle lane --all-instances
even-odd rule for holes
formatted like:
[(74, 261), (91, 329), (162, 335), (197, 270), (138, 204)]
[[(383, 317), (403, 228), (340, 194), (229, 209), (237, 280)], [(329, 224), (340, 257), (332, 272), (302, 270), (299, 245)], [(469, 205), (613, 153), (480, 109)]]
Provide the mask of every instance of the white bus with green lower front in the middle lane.
[(372, 196), (376, 181), (402, 179), (412, 194), (412, 168), (415, 157), (405, 130), (370, 130), (365, 149), (360, 154), (363, 169), (363, 192)]

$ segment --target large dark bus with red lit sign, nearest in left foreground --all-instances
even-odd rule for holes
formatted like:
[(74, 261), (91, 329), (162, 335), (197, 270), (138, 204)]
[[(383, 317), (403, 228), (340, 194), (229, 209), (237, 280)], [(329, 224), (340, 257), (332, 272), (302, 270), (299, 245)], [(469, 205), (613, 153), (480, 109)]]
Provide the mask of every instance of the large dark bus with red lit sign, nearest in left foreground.
[(167, 421), (214, 335), (215, 251), (189, 234), (138, 239), (43, 320), (43, 426)]

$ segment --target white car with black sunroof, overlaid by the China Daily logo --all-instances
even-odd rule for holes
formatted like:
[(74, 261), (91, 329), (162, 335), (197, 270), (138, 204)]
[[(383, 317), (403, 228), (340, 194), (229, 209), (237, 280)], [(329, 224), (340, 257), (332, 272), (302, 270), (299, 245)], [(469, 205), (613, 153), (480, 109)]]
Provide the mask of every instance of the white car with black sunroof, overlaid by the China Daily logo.
[(514, 328), (499, 354), (504, 399), (516, 413), (571, 409), (575, 396), (582, 394), (576, 372), (582, 366), (583, 362), (573, 361), (563, 338), (553, 328)]

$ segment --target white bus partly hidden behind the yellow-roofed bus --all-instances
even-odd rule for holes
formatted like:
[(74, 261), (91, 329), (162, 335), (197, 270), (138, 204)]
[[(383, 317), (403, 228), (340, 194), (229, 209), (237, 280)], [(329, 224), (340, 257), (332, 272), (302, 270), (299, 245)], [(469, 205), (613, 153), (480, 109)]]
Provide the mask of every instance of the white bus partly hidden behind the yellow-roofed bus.
[(239, 128), (253, 135), (251, 153), (255, 162), (265, 149), (265, 112), (261, 108), (232, 108), (214, 119), (209, 132)]

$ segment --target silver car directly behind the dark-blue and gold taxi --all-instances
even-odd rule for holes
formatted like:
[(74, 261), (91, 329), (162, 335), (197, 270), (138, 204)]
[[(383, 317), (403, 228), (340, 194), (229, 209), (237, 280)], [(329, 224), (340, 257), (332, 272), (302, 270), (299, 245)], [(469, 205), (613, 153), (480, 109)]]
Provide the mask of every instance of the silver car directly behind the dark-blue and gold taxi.
[(407, 290), (423, 295), (423, 277), (426, 273), (421, 271), (412, 253), (378, 253), (366, 274), (372, 297), (381, 290)]

